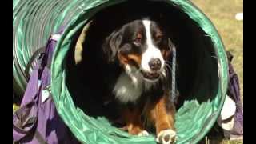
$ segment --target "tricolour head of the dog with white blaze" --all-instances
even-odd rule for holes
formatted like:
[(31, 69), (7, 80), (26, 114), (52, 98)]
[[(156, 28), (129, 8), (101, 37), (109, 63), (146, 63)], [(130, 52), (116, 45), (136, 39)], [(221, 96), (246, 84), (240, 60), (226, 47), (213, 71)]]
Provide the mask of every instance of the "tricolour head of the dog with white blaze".
[(148, 19), (134, 20), (107, 38), (105, 52), (118, 59), (126, 73), (140, 73), (147, 82), (165, 77), (170, 42), (163, 26)]

